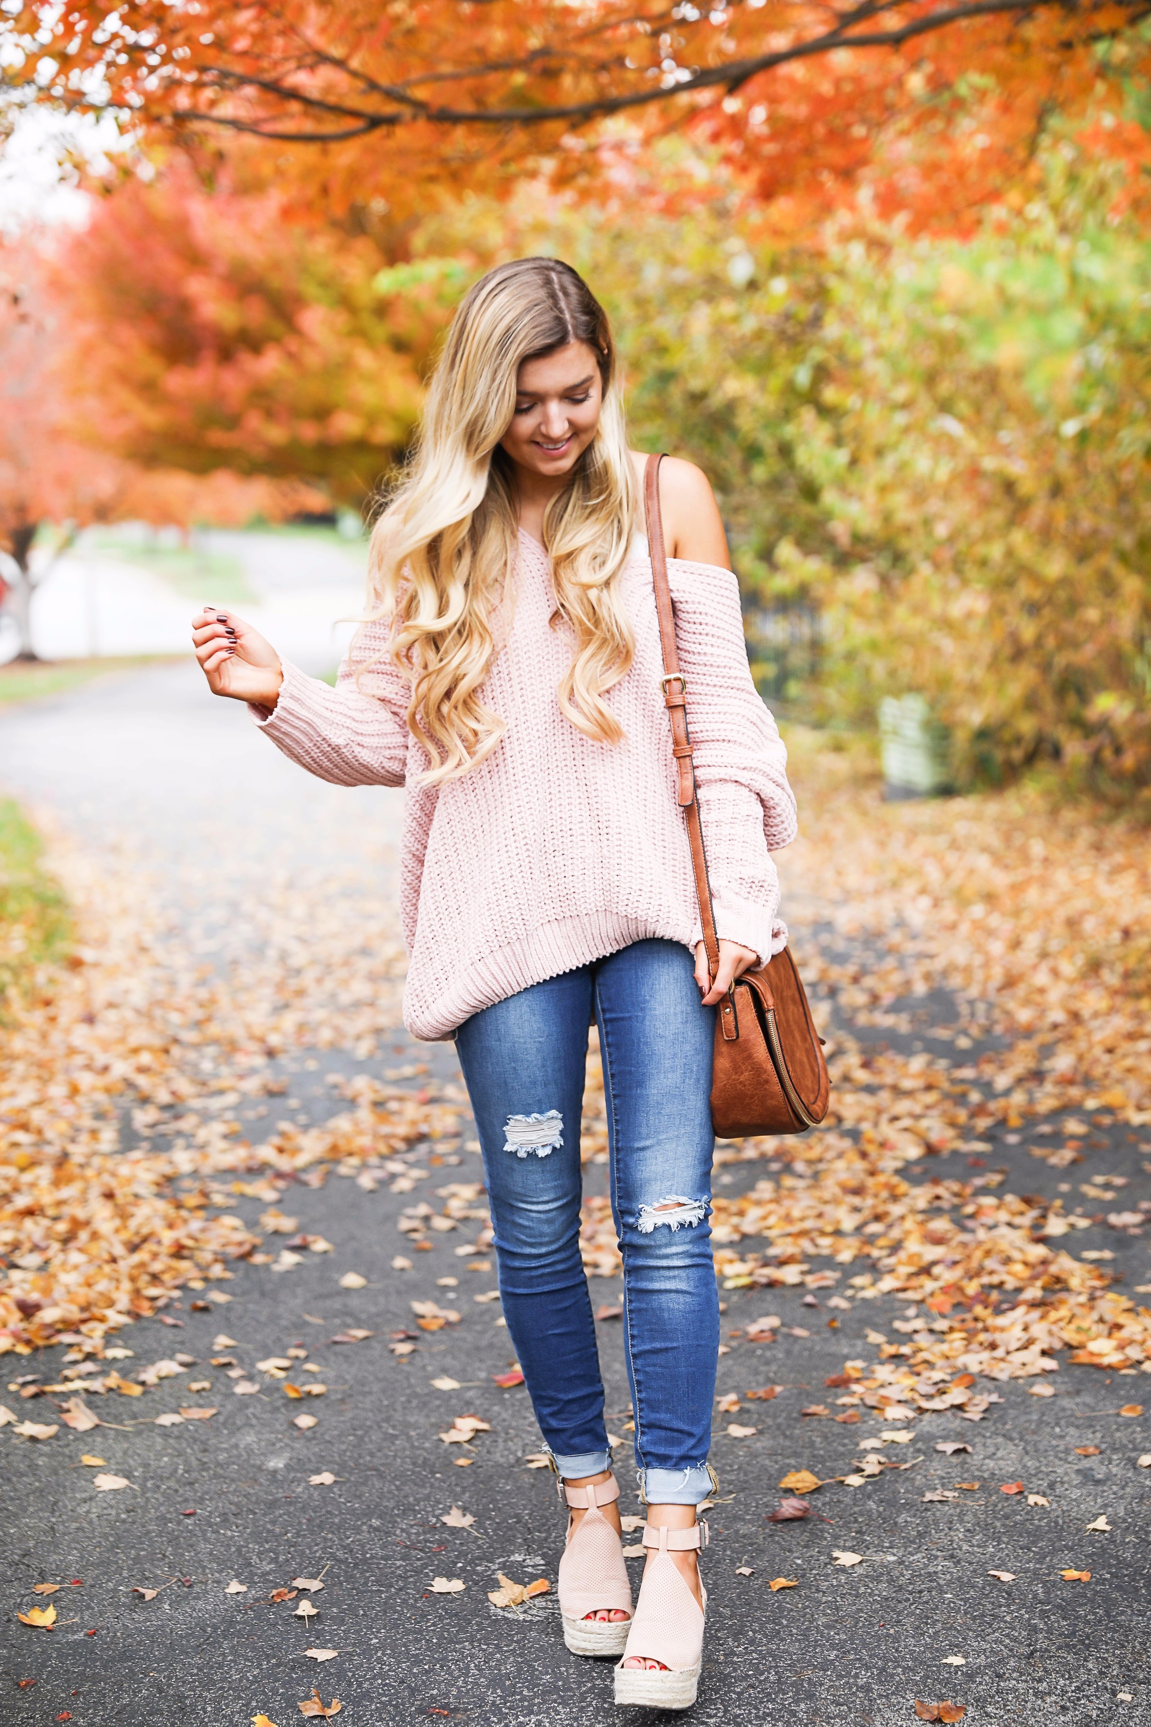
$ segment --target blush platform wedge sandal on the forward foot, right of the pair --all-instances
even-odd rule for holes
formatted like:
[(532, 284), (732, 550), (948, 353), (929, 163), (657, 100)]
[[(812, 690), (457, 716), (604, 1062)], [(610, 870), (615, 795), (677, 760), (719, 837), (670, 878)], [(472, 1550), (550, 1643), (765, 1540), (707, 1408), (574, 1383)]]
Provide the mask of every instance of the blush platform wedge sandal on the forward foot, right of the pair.
[[(644, 1530), (644, 1546), (659, 1551), (647, 1561), (640, 1599), (626, 1627), (623, 1661), (616, 1667), (616, 1703), (647, 1710), (690, 1710), (704, 1660), (708, 1591), (701, 1582), (704, 1597), (701, 1608), (671, 1554), (706, 1547), (708, 1525), (652, 1528), (649, 1523)], [(666, 1672), (625, 1667), (633, 1656), (663, 1661)]]

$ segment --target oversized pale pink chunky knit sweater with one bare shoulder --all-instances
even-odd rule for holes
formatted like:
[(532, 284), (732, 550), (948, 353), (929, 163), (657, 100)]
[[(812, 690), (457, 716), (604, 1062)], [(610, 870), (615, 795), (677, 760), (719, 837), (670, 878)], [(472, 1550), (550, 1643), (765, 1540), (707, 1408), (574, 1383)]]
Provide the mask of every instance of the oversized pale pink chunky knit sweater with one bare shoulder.
[[(770, 857), (796, 838), (787, 751), (751, 680), (735, 577), (676, 558), (668, 575), (716, 929), (763, 960), (787, 941)], [(659, 691), (651, 561), (640, 549), (621, 582), (635, 661), (606, 696), (625, 731), (621, 744), (592, 743), (559, 710), (571, 636), (549, 623), (550, 566), (528, 534), (519, 535), (507, 641), (480, 691), (507, 731), (462, 779), (416, 784), (428, 763), (407, 731), (400, 672), (371, 670), (354, 682), (355, 667), (381, 651), (383, 623), (361, 630), (335, 689), (285, 665), (276, 710), (254, 710), (261, 731), (321, 779), (409, 786), (404, 1022), (418, 1038), (450, 1036), (481, 1007), (632, 941), (699, 941)]]

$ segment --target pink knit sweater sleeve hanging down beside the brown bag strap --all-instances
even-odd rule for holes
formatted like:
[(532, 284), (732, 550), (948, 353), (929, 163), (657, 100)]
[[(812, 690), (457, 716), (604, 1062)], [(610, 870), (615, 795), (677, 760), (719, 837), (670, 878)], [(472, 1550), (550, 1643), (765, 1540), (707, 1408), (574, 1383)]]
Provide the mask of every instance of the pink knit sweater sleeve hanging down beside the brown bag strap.
[(668, 575), (716, 934), (764, 964), (787, 945), (771, 858), (797, 831), (787, 750), (751, 677), (732, 572), (671, 560)]

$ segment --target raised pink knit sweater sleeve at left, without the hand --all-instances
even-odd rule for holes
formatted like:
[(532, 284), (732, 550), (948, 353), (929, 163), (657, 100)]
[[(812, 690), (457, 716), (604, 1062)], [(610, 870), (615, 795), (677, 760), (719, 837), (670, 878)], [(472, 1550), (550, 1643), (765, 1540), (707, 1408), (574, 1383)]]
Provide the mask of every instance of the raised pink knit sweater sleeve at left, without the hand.
[(333, 786), (402, 786), (407, 767), (407, 682), (388, 661), (355, 679), (357, 667), (387, 648), (385, 622), (352, 641), (336, 687), (285, 660), (273, 712), (250, 706), (266, 737), (309, 774)]

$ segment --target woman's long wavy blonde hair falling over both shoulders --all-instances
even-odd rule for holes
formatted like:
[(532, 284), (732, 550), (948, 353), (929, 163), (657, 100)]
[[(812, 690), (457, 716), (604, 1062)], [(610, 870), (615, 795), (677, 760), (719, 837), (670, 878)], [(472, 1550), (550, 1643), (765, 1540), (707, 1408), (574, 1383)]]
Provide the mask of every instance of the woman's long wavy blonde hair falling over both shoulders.
[(500, 439), (516, 409), (519, 364), (569, 342), (595, 352), (604, 404), (595, 437), (544, 516), (552, 627), (566, 623), (573, 636), (557, 696), (588, 737), (623, 737), (602, 698), (635, 651), (618, 579), (638, 489), (611, 328), (569, 264), (521, 257), (488, 271), (459, 306), (412, 459), (371, 535), (369, 610), (390, 620), (387, 656), (411, 677), (407, 724), (430, 758), (421, 784), (466, 774), (504, 734), (504, 720), (478, 698), (497, 651), (500, 606), (513, 598), (516, 506)]

